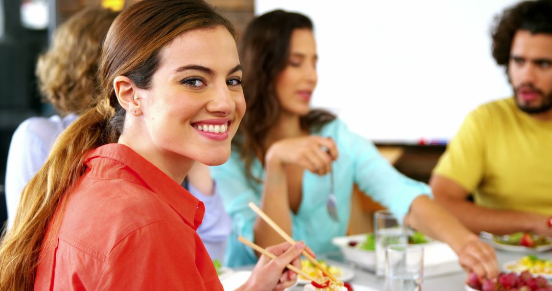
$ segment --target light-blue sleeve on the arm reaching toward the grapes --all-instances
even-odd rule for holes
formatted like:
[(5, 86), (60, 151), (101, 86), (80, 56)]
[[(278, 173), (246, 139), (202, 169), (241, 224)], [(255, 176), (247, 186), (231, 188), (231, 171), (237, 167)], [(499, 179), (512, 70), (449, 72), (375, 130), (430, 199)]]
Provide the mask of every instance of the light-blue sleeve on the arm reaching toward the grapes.
[(341, 144), (341, 151), (347, 150), (353, 155), (354, 181), (360, 190), (389, 208), (400, 222), (417, 196), (431, 197), (431, 188), (427, 184), (399, 173), (372, 142), (349, 131), (342, 122), (337, 130), (337, 142)]

